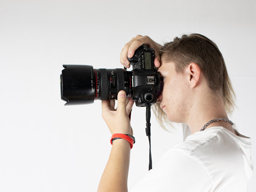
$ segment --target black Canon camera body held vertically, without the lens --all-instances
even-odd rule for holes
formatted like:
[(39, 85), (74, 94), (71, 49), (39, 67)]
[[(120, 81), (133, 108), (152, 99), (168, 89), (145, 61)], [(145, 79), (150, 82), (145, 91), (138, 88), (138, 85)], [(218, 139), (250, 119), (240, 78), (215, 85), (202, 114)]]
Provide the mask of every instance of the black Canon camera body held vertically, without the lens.
[(155, 104), (160, 91), (160, 77), (154, 67), (154, 49), (143, 44), (128, 60), (132, 66), (132, 100), (138, 107)]

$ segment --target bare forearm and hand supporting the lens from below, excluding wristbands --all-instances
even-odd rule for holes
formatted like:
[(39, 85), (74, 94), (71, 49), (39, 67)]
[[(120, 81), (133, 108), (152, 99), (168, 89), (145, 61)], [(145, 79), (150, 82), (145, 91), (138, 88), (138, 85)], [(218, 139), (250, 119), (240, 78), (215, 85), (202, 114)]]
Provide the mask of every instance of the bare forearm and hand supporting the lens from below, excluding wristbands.
[[(115, 100), (102, 101), (102, 117), (112, 135), (115, 133), (132, 135), (129, 113), (134, 102), (131, 98), (126, 99), (124, 91), (120, 91), (117, 98), (116, 109)], [(98, 192), (127, 192), (130, 151), (131, 144), (127, 140), (116, 139), (113, 141), (108, 163), (100, 179)]]

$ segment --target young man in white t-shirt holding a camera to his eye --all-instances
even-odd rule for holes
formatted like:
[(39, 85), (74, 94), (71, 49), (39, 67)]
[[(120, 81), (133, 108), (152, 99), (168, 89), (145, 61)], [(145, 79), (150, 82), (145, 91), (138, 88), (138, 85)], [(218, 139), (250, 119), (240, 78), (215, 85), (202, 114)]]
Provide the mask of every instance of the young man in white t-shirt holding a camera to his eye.
[[(155, 67), (164, 84), (156, 104), (160, 124), (166, 119), (185, 124), (191, 135), (167, 151), (130, 191), (245, 191), (252, 175), (251, 140), (228, 119), (235, 96), (216, 44), (199, 34), (176, 37), (164, 46), (136, 36), (121, 52), (125, 67), (127, 56), (142, 44), (155, 50)], [(123, 139), (113, 140), (98, 191), (128, 191), (132, 142), (126, 136), (132, 135), (128, 114), (133, 101), (120, 91), (117, 103), (115, 109), (114, 100), (102, 101), (111, 134)]]

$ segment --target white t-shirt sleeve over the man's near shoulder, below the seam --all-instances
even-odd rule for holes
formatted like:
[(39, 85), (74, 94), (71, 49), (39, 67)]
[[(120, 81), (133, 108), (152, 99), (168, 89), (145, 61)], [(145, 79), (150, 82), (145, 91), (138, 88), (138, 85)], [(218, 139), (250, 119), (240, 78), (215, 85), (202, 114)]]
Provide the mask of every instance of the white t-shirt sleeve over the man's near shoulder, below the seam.
[(129, 192), (211, 191), (212, 181), (195, 157), (171, 149)]

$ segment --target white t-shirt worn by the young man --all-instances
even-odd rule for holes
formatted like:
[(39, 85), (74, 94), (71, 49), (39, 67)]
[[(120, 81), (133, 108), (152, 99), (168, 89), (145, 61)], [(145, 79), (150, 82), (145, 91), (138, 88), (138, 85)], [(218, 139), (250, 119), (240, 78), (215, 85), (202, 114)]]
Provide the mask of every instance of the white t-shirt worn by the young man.
[(252, 167), (250, 138), (210, 127), (173, 146), (129, 192), (242, 192)]

